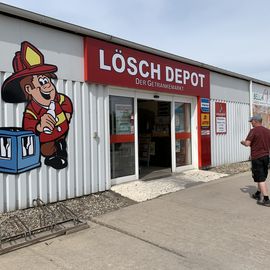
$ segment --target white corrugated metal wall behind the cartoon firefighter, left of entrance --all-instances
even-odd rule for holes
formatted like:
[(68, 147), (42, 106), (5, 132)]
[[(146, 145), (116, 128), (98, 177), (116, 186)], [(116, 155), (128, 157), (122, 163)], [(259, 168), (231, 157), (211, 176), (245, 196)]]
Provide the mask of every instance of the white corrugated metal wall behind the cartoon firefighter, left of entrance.
[[(9, 76), (0, 73), (0, 86)], [(74, 198), (110, 188), (106, 123), (108, 91), (103, 86), (58, 80), (58, 92), (69, 96), (74, 113), (68, 134), (68, 167), (55, 170), (43, 164), (19, 175), (0, 173), (0, 212)], [(21, 127), (25, 104), (0, 102), (0, 126)], [(97, 132), (98, 137), (93, 134)]]

